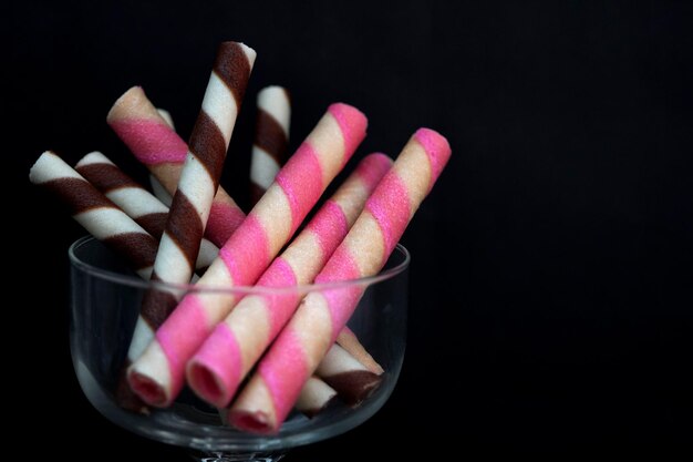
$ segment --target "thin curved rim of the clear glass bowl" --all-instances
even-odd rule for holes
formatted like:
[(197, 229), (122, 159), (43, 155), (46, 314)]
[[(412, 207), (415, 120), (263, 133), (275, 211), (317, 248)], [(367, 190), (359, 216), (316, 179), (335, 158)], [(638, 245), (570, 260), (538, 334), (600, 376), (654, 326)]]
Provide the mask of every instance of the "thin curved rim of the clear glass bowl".
[(365, 276), (355, 279), (345, 279), (330, 283), (312, 283), (312, 284), (301, 284), (294, 286), (199, 286), (194, 283), (190, 284), (172, 284), (165, 283), (161, 280), (145, 280), (136, 276), (125, 275), (122, 273), (113, 271), (110, 269), (101, 268), (87, 261), (84, 261), (76, 255), (76, 250), (91, 243), (99, 242), (94, 236), (87, 235), (76, 239), (74, 243), (70, 245), (68, 249), (68, 255), (70, 257), (70, 263), (73, 267), (76, 267), (92, 276), (99, 277), (104, 280), (108, 280), (111, 283), (121, 284), (128, 287), (134, 288), (153, 288), (157, 290), (175, 290), (175, 291), (204, 291), (204, 292), (217, 292), (217, 294), (257, 294), (257, 292), (267, 292), (267, 294), (283, 294), (283, 292), (309, 292), (309, 291), (319, 291), (319, 290), (329, 290), (329, 289), (343, 289), (352, 286), (370, 286), (376, 283), (382, 283), (387, 279), (392, 279), (395, 276), (402, 274), (406, 270), (411, 263), (411, 254), (402, 244), (396, 244), (391, 256), (399, 253), (401, 255), (402, 260), (397, 261), (393, 267), (382, 269), (376, 275)]

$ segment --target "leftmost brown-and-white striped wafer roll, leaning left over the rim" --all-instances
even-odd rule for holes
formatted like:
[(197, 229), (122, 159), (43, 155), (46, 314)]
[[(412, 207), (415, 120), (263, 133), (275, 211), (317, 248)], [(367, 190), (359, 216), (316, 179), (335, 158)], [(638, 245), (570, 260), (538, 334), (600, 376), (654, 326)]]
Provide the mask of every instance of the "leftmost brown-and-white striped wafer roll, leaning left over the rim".
[(156, 240), (62, 158), (44, 152), (29, 179), (59, 197), (80, 225), (124, 257), (141, 277), (149, 278)]

